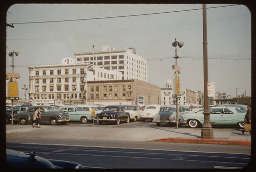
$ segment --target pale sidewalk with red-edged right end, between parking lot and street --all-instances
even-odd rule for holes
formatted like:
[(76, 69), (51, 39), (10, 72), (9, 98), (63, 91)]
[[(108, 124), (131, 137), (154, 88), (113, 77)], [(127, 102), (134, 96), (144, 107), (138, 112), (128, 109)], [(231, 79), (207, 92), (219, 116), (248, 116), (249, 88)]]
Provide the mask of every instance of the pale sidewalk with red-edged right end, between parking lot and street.
[[(122, 125), (122, 124), (121, 124)], [(96, 139), (96, 140), (129, 140), (178, 143), (204, 143), (251, 145), (249, 132), (242, 134), (239, 128), (212, 128), (213, 139), (201, 139), (201, 128), (188, 127), (137, 127), (124, 128), (111, 126), (103, 128), (95, 124), (77, 126), (50, 126), (41, 125), (41, 128), (32, 128), (31, 125), (6, 125), (7, 136), (31, 138), (67, 138), (67, 139)]]

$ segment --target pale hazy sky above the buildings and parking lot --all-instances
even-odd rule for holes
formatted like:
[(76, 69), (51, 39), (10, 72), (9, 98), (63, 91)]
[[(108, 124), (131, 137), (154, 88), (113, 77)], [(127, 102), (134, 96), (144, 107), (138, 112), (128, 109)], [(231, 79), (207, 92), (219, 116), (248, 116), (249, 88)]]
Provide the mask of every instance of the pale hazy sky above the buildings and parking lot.
[[(218, 7), (218, 8), (212, 8)], [(207, 4), (208, 81), (232, 97), (251, 95), (251, 13), (244, 5)], [(147, 14), (147, 15), (142, 15)], [(117, 17), (118, 16), (118, 17)], [(134, 47), (148, 60), (147, 82), (173, 81), (175, 47), (180, 89), (203, 92), (201, 4), (15, 4), (6, 14), (6, 72), (19, 73), (19, 96), (29, 87), (29, 66), (61, 64), (74, 53)], [(28, 94), (26, 94), (28, 96)]]

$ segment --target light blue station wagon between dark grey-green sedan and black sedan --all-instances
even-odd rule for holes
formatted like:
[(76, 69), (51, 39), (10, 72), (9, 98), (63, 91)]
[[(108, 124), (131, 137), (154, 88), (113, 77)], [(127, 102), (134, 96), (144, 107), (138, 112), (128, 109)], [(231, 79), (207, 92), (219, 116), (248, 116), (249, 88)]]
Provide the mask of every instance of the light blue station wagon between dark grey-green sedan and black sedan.
[(91, 111), (85, 111), (80, 106), (62, 106), (58, 109), (60, 112), (69, 113), (69, 121), (87, 123), (91, 116)]

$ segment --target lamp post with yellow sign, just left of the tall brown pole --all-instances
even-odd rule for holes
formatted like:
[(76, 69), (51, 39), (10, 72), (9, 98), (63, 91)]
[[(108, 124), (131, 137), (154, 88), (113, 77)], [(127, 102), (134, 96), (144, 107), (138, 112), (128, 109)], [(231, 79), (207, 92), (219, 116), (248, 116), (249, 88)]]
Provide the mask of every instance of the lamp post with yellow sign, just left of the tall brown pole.
[(177, 125), (177, 129), (178, 129), (179, 128), (178, 97), (180, 98), (180, 79), (179, 79), (180, 68), (177, 65), (177, 59), (179, 58), (178, 54), (177, 54), (177, 45), (181, 48), (184, 45), (184, 43), (176, 41), (176, 38), (175, 38), (175, 42), (173, 42), (172, 45), (175, 46), (175, 57), (174, 57), (175, 65), (173, 65), (173, 69), (175, 69), (174, 75), (175, 75), (175, 97), (176, 97), (176, 125)]

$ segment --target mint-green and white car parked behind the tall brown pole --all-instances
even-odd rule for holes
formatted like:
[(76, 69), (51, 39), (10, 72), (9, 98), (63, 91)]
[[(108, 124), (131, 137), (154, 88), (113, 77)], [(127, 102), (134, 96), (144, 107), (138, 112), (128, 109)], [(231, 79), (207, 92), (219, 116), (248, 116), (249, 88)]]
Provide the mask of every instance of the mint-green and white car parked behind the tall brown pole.
[[(239, 106), (215, 106), (210, 108), (210, 124), (222, 126), (239, 126), (244, 128), (244, 116), (246, 111)], [(185, 113), (181, 115), (180, 122), (188, 124), (191, 128), (197, 128), (204, 124), (203, 113)]]

